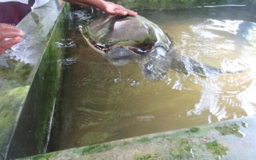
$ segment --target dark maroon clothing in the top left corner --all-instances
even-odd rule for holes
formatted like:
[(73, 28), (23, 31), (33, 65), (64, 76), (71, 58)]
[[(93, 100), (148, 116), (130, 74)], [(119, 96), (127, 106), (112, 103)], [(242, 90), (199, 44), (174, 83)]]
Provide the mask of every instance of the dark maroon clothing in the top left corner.
[(0, 23), (17, 25), (30, 11), (35, 0), (28, 4), (20, 2), (0, 2)]

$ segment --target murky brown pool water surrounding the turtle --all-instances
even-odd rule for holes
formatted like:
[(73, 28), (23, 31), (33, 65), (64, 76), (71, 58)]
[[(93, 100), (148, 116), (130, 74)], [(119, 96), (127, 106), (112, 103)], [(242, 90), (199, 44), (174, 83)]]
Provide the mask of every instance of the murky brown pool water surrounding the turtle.
[(90, 48), (78, 30), (90, 14), (73, 12), (49, 151), (256, 114), (255, 8), (138, 13), (167, 32), (179, 54), (246, 72), (204, 78), (170, 70), (164, 80), (144, 79), (136, 62), (114, 66)]

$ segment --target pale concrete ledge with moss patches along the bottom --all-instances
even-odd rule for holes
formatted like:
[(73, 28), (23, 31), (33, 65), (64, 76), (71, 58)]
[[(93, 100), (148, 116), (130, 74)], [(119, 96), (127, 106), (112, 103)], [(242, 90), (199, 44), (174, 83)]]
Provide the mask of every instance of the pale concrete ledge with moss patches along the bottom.
[[(230, 126), (247, 122), (248, 128), (243, 128), (246, 137), (236, 135), (222, 136), (215, 127)], [(255, 158), (256, 150), (256, 116), (237, 118), (226, 122), (197, 126), (198, 131), (190, 132), (190, 128), (149, 134), (136, 138), (127, 138), (31, 156), (22, 160), (239, 160)], [(245, 145), (246, 144), (246, 145)]]

